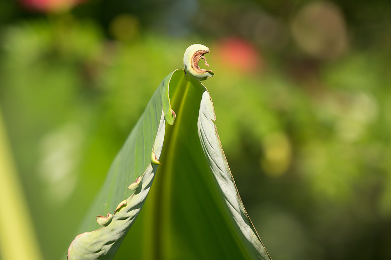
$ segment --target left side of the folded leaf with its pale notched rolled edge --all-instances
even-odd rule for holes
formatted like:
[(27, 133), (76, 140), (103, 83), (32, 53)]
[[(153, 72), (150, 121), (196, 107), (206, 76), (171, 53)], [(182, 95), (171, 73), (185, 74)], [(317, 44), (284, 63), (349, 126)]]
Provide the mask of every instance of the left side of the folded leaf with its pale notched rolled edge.
[[(179, 72), (179, 70), (176, 70)], [(123, 198), (127, 198), (123, 207), (114, 211), (108, 226), (78, 235), (68, 249), (68, 259), (112, 259), (122, 240), (128, 233), (143, 206), (154, 179), (157, 165), (151, 163), (151, 156), (158, 160), (161, 155), (165, 134), (165, 112), (171, 111), (168, 95), (170, 73), (159, 85), (132, 129), (121, 151), (110, 166), (105, 183), (92, 204), (81, 230), (93, 230), (97, 225), (93, 216), (114, 209)], [(178, 73), (177, 72), (177, 73)], [(168, 106), (167, 106), (168, 104)], [(144, 172), (144, 169), (145, 172)], [(142, 174), (141, 170), (144, 172)], [(126, 187), (141, 175), (142, 183), (133, 194)], [(118, 210), (118, 208), (120, 208)]]

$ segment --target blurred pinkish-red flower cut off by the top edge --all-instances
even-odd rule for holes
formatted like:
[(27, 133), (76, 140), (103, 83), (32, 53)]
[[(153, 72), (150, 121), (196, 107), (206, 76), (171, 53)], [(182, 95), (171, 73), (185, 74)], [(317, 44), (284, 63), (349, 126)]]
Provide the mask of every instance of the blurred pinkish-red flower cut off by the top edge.
[(29, 10), (56, 13), (64, 12), (85, 0), (19, 0)]

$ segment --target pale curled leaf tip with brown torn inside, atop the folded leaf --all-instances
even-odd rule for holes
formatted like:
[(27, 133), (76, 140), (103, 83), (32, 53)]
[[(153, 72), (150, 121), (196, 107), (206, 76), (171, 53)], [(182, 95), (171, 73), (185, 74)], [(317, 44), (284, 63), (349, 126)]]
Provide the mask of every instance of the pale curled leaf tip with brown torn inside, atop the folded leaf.
[(183, 56), (185, 73), (190, 73), (196, 80), (207, 80), (214, 75), (211, 70), (201, 69), (198, 65), (199, 60), (204, 60), (205, 65), (209, 67), (204, 54), (209, 52), (209, 48), (201, 44), (189, 46)]

